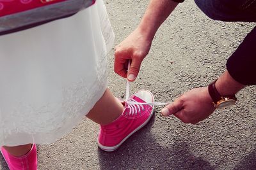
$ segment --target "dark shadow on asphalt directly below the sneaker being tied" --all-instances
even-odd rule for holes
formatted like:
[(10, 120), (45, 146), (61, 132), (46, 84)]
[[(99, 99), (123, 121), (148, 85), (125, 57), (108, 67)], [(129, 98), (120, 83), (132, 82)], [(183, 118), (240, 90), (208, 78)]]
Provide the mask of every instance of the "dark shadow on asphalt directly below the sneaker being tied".
[(214, 169), (206, 160), (189, 152), (186, 143), (177, 141), (167, 148), (156, 143), (147, 127), (136, 132), (115, 152), (98, 150), (100, 169)]

